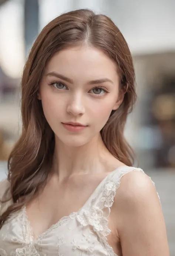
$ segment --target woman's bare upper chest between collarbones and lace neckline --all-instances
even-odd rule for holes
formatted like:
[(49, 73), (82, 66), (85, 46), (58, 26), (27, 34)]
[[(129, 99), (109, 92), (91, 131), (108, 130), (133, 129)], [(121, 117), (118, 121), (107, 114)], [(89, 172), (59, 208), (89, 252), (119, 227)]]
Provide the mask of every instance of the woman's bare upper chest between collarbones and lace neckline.
[(44, 233), (64, 216), (69, 216), (72, 212), (78, 212), (87, 206), (95, 197), (98, 180), (91, 182), (90, 185), (85, 178), (82, 178), (82, 182), (78, 181), (75, 179), (58, 185), (53, 179), (49, 181), (37, 198), (32, 199), (26, 205), (25, 215), (32, 227), (34, 238)]

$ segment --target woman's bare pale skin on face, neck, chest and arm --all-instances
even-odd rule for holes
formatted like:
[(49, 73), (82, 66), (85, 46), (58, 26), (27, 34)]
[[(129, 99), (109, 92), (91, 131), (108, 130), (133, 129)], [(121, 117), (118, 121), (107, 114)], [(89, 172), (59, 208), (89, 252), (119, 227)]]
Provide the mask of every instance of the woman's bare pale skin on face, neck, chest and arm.
[[(103, 178), (124, 165), (110, 154), (100, 137), (100, 130), (111, 111), (119, 108), (123, 96), (116, 64), (96, 48), (69, 48), (49, 61), (38, 100), (55, 133), (54, 174), (44, 191), (27, 205), (34, 238), (63, 216), (78, 211)], [(70, 132), (62, 124), (66, 122), (86, 127)], [(119, 256), (169, 255), (157, 192), (143, 173), (131, 172), (121, 178), (109, 228), (109, 245)]]

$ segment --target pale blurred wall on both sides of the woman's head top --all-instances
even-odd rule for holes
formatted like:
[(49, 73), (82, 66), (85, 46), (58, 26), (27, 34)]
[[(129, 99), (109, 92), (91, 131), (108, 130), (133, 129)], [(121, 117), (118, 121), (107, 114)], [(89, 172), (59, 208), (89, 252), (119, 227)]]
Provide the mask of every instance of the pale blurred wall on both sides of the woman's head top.
[(175, 50), (175, 0), (41, 0), (40, 25), (60, 13), (91, 8), (109, 15), (133, 54)]

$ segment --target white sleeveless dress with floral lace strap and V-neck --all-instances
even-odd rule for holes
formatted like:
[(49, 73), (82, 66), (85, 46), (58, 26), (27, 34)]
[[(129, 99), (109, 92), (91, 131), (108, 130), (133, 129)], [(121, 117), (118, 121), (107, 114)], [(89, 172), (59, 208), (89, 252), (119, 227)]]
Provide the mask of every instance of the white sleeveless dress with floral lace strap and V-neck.
[[(12, 214), (0, 229), (0, 256), (117, 256), (107, 240), (108, 216), (120, 179), (130, 171), (143, 172), (134, 167), (117, 168), (100, 182), (78, 212), (64, 216), (37, 239), (31, 235), (25, 207)], [(1, 195), (2, 188), (3, 182)], [(7, 206), (0, 206), (1, 214)]]

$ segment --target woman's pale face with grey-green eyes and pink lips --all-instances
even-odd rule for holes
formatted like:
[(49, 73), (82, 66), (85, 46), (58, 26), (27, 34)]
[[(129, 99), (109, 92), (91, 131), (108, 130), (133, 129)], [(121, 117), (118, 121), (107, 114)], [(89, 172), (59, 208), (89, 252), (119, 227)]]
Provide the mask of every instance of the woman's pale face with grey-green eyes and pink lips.
[(116, 69), (109, 57), (90, 46), (59, 51), (48, 62), (38, 99), (64, 144), (82, 146), (99, 136), (111, 111), (120, 106)]

